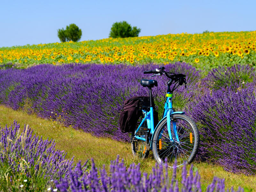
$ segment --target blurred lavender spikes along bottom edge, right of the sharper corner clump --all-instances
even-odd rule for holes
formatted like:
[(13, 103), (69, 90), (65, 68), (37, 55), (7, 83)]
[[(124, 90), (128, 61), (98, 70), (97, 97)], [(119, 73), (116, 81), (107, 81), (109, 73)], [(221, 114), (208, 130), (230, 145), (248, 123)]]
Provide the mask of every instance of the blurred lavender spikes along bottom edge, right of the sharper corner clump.
[[(182, 169), (181, 183), (176, 177), (176, 166), (174, 164), (172, 178), (168, 176), (167, 163), (163, 167), (162, 165), (156, 164), (152, 168), (152, 173), (140, 172), (140, 165), (131, 164), (129, 168), (126, 168), (123, 161), (119, 162), (119, 158), (115, 161), (111, 161), (109, 174), (107, 174), (105, 167), (98, 171), (92, 159), (92, 168), (88, 172), (83, 172), (81, 164), (78, 163), (76, 168), (69, 170), (70, 181), (64, 178), (60, 182), (56, 181), (56, 187), (61, 192), (83, 192), (83, 191), (94, 191), (94, 192), (200, 192), (202, 191), (200, 175), (196, 171), (193, 172), (193, 165), (191, 165), (189, 172), (186, 170), (186, 166)], [(207, 187), (207, 192), (224, 192), (225, 182), (224, 179), (214, 177), (212, 183)], [(227, 189), (227, 191), (229, 191)], [(234, 192), (234, 189), (230, 189)], [(238, 188), (237, 192), (244, 191), (243, 188)]]

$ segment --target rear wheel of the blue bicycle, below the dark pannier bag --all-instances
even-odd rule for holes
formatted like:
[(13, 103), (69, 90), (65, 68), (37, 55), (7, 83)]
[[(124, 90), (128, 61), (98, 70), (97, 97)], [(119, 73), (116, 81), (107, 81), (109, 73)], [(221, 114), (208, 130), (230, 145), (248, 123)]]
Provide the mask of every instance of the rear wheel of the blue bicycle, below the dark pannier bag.
[[(139, 125), (140, 125), (140, 123), (141, 123), (141, 121), (143, 120), (144, 117), (145, 117), (145, 115), (142, 113), (142, 115), (139, 117), (139, 119), (136, 123), (135, 131), (139, 127)], [(143, 122), (143, 124), (140, 127), (140, 130), (143, 129), (143, 128), (148, 128), (147, 121)], [(144, 137), (146, 138), (146, 135), (144, 135)], [(132, 154), (134, 156), (137, 156), (137, 157), (141, 158), (141, 159), (146, 159), (148, 157), (148, 154), (149, 154), (149, 150), (147, 150), (146, 142), (142, 141), (142, 140), (136, 140), (135, 138), (132, 138)]]

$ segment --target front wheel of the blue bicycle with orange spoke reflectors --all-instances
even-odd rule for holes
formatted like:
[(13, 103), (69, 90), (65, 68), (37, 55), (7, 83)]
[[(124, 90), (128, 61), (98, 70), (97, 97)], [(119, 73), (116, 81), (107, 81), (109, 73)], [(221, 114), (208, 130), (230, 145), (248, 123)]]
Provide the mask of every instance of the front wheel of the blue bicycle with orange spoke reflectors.
[[(175, 126), (178, 137), (174, 133)], [(164, 164), (165, 159), (167, 159), (170, 168), (172, 168), (175, 159), (177, 160), (177, 167), (191, 163), (199, 147), (199, 132), (195, 122), (186, 115), (173, 115), (171, 135), (172, 140), (167, 130), (167, 119), (165, 119), (156, 128), (152, 140), (153, 154), (157, 163)]]

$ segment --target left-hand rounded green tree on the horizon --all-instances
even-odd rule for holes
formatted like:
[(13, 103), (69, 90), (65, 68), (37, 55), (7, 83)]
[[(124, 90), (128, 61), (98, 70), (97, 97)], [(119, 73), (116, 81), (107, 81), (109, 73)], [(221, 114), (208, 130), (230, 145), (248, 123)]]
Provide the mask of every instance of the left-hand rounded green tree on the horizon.
[(61, 42), (65, 41), (74, 41), (77, 42), (82, 36), (82, 30), (79, 29), (76, 24), (72, 23), (66, 27), (66, 30), (58, 29), (58, 37), (60, 38)]

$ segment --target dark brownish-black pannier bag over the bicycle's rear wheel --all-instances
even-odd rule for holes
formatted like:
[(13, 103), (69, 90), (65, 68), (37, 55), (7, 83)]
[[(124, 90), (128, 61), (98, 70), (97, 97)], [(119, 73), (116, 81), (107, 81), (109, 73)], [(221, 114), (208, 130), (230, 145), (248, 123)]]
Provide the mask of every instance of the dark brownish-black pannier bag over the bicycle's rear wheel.
[[(154, 108), (154, 126), (158, 124), (158, 112), (155, 110), (154, 99), (152, 98)], [(150, 99), (148, 96), (136, 96), (124, 101), (123, 111), (120, 113), (119, 124), (120, 130), (125, 132), (134, 132), (136, 123), (142, 115), (142, 110), (149, 111)]]

